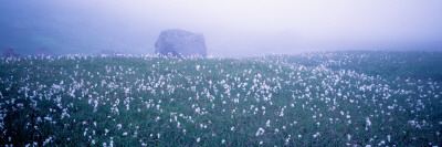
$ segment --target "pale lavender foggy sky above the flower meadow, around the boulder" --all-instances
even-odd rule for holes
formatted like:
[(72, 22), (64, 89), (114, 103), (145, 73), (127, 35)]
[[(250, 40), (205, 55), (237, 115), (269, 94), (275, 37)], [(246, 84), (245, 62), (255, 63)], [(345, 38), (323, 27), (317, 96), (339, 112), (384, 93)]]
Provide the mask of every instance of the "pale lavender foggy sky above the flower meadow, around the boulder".
[(3, 0), (0, 48), (152, 54), (159, 33), (202, 33), (208, 54), (442, 50), (441, 0)]

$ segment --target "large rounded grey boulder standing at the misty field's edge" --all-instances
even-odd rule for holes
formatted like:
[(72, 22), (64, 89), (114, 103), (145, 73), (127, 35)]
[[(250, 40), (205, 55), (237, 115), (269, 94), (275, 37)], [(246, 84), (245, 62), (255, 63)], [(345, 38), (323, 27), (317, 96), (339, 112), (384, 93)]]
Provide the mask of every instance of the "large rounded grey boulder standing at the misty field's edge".
[(204, 36), (185, 30), (162, 31), (155, 43), (155, 53), (173, 56), (206, 56)]

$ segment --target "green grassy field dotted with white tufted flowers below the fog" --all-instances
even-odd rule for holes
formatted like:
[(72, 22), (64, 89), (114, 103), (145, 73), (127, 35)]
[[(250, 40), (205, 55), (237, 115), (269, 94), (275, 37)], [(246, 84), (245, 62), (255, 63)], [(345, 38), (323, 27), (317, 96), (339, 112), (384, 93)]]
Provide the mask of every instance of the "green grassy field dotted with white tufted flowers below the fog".
[(0, 145), (441, 146), (441, 52), (0, 60)]

